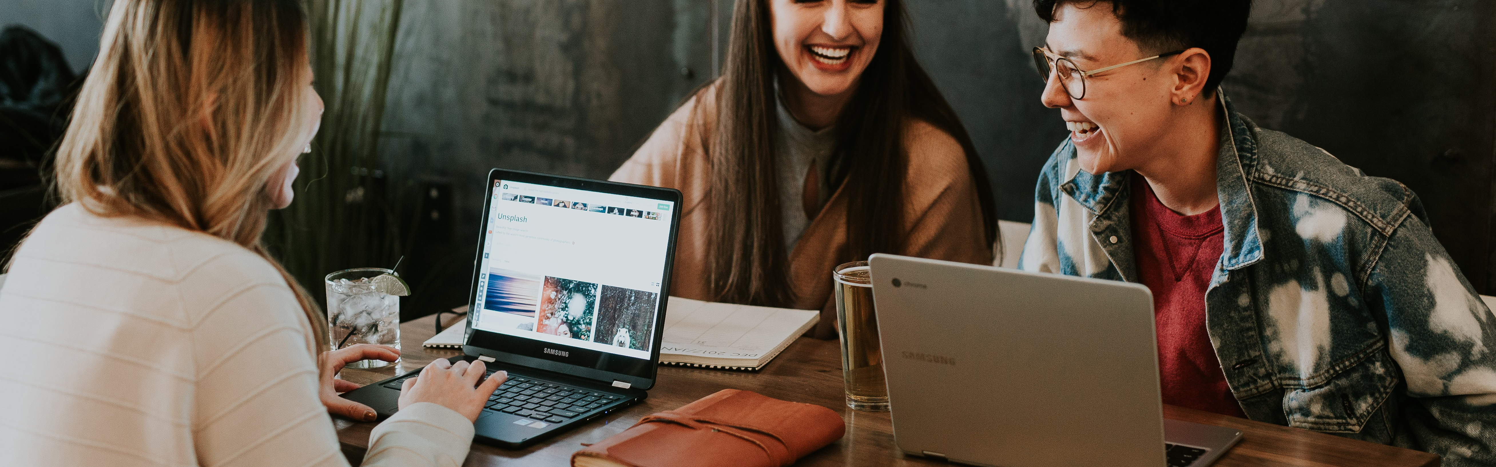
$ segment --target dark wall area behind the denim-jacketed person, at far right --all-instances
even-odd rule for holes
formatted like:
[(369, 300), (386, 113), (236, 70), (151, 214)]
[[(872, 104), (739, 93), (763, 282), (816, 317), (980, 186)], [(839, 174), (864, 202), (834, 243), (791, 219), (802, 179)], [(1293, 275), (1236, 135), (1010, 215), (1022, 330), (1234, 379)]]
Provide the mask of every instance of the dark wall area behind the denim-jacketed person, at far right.
[(1258, 0), (1225, 88), (1258, 124), (1412, 188), (1478, 289), (1492, 276), (1496, 3)]

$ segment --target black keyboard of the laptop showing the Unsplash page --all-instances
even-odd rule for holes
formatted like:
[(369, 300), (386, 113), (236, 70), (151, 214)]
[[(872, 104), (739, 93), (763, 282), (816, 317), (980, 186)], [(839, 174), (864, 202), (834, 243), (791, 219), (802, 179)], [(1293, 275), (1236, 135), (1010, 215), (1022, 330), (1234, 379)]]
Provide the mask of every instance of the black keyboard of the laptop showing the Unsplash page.
[[(399, 389), (405, 379), (414, 377), (419, 372), (384, 383), (386, 388)], [(488, 374), (494, 374), (489, 372)], [(486, 377), (486, 376), (485, 376)], [(488, 410), (513, 413), (518, 416), (561, 424), (586, 416), (604, 409), (622, 395), (598, 392), (592, 389), (567, 386), (536, 377), (510, 374), (492, 395), (488, 397)]]

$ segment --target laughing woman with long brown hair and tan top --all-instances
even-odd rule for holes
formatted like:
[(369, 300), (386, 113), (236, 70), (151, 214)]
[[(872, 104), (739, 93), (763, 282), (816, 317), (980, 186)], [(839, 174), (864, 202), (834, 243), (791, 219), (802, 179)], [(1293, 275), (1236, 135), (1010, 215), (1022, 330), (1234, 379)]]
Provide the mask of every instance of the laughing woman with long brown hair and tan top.
[(820, 309), (890, 252), (992, 263), (992, 188), (901, 0), (738, 0), (723, 78), (613, 173), (685, 194), (673, 295)]

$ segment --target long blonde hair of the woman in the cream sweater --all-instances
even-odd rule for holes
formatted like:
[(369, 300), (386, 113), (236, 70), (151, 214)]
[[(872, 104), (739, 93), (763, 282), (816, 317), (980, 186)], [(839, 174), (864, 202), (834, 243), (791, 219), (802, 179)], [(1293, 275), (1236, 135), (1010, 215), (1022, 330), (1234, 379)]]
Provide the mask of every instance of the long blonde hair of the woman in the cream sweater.
[(326, 318), (260, 243), (265, 185), (301, 152), (307, 16), (295, 0), (115, 0), (57, 151), (64, 203), (254, 251), (295, 291), (317, 349)]

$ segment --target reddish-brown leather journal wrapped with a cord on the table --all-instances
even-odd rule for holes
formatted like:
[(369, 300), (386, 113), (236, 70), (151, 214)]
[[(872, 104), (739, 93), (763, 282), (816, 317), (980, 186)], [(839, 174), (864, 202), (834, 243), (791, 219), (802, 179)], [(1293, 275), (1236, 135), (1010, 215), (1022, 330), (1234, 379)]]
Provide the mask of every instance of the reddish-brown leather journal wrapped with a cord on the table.
[(784, 467), (842, 437), (832, 409), (723, 389), (571, 455), (574, 467)]

